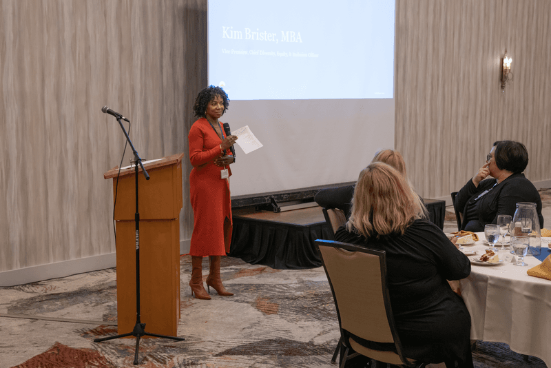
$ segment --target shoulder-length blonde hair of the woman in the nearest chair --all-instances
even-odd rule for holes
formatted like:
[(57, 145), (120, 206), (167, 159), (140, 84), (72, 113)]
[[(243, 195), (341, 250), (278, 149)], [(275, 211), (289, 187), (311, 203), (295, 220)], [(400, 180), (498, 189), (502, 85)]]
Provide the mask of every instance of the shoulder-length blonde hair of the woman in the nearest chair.
[(424, 205), (406, 177), (391, 165), (374, 162), (357, 179), (346, 229), (355, 228), (366, 238), (404, 234), (414, 220), (424, 217)]

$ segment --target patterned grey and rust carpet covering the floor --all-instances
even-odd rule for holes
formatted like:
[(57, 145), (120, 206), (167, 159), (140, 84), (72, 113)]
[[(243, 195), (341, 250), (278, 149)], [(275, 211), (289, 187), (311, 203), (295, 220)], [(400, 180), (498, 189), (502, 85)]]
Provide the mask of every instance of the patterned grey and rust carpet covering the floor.
[[(206, 274), (206, 258), (203, 265)], [(276, 270), (222, 257), (222, 278), (236, 295), (212, 300), (191, 298), (190, 270), (183, 256), (185, 341), (141, 340), (141, 367), (336, 367), (338, 323), (322, 268)], [(0, 368), (133, 367), (134, 338), (93, 341), (116, 334), (115, 269), (1, 288), (0, 314)], [(477, 343), (474, 356), (477, 368), (545, 367), (497, 343)]]

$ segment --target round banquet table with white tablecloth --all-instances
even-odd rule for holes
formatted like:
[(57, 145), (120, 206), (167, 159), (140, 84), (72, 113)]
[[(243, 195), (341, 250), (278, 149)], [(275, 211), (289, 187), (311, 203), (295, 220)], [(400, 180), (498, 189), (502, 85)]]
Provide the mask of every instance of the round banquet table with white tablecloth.
[[(462, 249), (477, 251), (469, 258), (479, 258), (488, 248), (484, 233), (477, 235), (479, 241)], [(513, 256), (509, 250), (497, 254), (502, 263), (471, 262), (470, 275), (459, 282), (470, 313), (470, 337), (506, 343), (512, 351), (536, 356), (551, 367), (551, 280), (526, 274), (541, 263), (533, 256), (524, 257), (528, 266), (521, 267), (505, 259)]]

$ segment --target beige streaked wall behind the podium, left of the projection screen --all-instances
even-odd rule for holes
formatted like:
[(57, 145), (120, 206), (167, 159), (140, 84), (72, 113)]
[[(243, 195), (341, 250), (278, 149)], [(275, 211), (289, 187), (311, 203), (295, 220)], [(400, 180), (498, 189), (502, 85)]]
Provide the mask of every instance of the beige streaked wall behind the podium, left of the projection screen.
[(124, 136), (101, 108), (132, 121), (142, 158), (187, 152), (207, 80), (206, 3), (1, 0), (0, 21), (0, 272), (115, 252), (103, 173)]

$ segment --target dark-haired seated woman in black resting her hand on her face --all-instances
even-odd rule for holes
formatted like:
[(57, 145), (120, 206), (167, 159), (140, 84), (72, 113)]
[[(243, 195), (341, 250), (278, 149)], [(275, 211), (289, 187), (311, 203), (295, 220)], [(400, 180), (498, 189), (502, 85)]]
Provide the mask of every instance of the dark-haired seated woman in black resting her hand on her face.
[[(463, 214), (461, 230), (484, 232), (484, 225), (497, 223), (497, 216), (513, 216), (519, 202), (536, 203), (543, 228), (541, 198), (522, 173), (528, 166), (528, 150), (522, 143), (497, 141), (486, 163), (455, 196), (455, 208)], [(492, 176), (492, 178), (488, 178)]]

